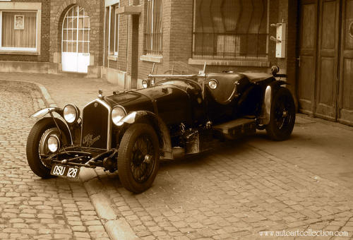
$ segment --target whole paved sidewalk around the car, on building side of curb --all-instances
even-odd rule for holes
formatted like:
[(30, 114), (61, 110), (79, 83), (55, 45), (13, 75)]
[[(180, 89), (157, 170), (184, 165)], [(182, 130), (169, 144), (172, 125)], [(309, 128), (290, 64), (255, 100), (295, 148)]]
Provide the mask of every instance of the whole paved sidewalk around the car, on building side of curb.
[[(2, 73), (1, 79), (40, 83), (59, 107), (72, 102), (82, 109), (98, 89), (116, 90), (92, 78)], [(138, 195), (102, 169), (83, 180), (97, 214), (119, 220), (105, 226), (111, 237), (114, 229), (140, 239), (263, 239), (258, 232), (322, 229), (352, 238), (352, 139), (352, 127), (298, 114), (289, 140), (273, 142), (259, 131), (213, 152), (162, 162), (152, 188)]]

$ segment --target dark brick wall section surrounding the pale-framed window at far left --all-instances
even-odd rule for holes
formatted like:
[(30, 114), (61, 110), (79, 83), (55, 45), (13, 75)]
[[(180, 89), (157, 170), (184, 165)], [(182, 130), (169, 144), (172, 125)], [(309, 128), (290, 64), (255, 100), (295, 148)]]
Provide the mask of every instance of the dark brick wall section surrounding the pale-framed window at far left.
[(13, 0), (12, 2), (41, 2), (41, 36), (39, 55), (1, 54), (0, 61), (49, 61), (50, 2), (48, 0)]

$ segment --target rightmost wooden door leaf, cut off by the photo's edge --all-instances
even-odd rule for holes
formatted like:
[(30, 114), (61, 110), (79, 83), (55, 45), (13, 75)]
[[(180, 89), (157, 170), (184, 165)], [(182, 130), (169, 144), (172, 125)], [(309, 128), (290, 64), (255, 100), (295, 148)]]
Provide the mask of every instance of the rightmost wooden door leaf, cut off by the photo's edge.
[(338, 121), (353, 126), (353, 0), (343, 1)]

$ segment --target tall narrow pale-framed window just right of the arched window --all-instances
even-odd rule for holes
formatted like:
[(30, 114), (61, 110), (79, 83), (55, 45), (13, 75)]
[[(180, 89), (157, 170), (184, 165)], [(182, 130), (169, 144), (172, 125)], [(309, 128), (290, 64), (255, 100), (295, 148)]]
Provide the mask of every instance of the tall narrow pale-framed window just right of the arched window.
[(118, 4), (109, 6), (109, 55), (118, 55), (119, 52), (119, 24), (120, 15), (116, 13)]

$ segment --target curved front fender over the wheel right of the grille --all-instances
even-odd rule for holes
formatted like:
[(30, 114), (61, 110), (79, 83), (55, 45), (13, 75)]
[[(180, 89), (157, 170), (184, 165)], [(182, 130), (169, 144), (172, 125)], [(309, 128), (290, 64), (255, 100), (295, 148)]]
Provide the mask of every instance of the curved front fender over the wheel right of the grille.
[(124, 116), (123, 119), (119, 121), (118, 126), (124, 126), (127, 124), (134, 124), (140, 121), (148, 121), (152, 124), (155, 129), (157, 136), (160, 140), (160, 147), (163, 152), (164, 158), (172, 159), (172, 142), (170, 140), (169, 130), (164, 121), (160, 119), (159, 116), (149, 111), (135, 111)]

